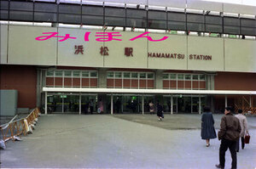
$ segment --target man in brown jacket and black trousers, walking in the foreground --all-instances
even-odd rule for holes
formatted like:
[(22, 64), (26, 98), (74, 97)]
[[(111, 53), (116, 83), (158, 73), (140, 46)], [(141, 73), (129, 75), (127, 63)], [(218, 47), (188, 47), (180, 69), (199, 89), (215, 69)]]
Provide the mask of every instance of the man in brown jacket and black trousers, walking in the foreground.
[(225, 166), (225, 153), (230, 149), (232, 158), (232, 169), (236, 168), (236, 141), (240, 137), (241, 126), (239, 120), (231, 113), (232, 108), (226, 107), (223, 117), (221, 118), (220, 130), (218, 131), (218, 139), (221, 140), (219, 147), (219, 164), (218, 168)]

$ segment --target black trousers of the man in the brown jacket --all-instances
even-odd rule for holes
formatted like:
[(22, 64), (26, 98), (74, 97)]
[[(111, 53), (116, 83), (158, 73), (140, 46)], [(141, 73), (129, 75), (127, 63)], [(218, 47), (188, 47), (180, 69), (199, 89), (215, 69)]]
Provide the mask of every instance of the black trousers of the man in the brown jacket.
[(230, 149), (230, 154), (232, 158), (232, 167), (236, 168), (236, 141), (230, 141), (227, 139), (222, 139), (219, 147), (219, 165), (225, 166), (225, 153), (227, 149)]

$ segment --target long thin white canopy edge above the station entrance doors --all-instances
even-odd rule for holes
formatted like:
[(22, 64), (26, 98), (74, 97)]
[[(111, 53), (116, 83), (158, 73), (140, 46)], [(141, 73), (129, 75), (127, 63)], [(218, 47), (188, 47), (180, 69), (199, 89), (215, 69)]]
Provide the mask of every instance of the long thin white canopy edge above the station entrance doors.
[(256, 91), (235, 91), (235, 90), (169, 90), (169, 89), (75, 88), (75, 87), (43, 87), (43, 92), (256, 95)]

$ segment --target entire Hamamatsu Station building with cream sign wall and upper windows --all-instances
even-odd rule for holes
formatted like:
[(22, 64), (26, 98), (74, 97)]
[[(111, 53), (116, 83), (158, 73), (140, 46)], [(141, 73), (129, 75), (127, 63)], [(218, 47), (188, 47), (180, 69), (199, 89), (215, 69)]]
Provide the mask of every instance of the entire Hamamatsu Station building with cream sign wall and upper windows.
[[(0, 9), (1, 90), (17, 91), (18, 110), (149, 114), (153, 102), (166, 114), (256, 113), (254, 6), (8, 0)], [(37, 40), (47, 32), (60, 37)]]

